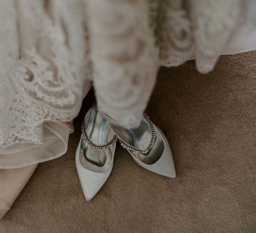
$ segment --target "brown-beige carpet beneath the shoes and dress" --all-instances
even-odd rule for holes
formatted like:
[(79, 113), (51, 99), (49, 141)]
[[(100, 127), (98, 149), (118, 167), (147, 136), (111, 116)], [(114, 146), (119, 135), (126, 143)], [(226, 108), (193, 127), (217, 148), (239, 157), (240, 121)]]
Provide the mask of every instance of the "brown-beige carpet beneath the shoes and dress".
[(118, 145), (113, 171), (90, 202), (75, 167), (84, 105), (68, 152), (39, 164), (0, 232), (255, 233), (255, 58), (223, 56), (207, 75), (194, 61), (161, 69), (147, 113), (171, 145), (177, 177), (141, 168)]

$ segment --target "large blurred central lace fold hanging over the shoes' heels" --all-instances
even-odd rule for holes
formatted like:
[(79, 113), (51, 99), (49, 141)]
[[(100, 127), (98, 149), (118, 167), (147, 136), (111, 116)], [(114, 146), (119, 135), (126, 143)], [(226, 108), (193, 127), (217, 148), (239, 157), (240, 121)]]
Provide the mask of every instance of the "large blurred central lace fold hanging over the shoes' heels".
[(98, 108), (134, 127), (140, 123), (158, 69), (149, 5), (144, 0), (89, 0), (88, 12)]

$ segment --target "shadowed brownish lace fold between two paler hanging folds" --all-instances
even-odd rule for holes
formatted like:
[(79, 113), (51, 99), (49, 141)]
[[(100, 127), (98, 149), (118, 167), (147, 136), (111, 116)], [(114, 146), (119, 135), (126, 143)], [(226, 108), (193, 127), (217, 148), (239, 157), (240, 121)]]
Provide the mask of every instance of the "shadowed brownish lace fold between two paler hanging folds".
[(156, 38), (159, 45), (159, 62), (162, 66), (184, 63), (193, 49), (191, 22), (182, 1), (160, 2)]

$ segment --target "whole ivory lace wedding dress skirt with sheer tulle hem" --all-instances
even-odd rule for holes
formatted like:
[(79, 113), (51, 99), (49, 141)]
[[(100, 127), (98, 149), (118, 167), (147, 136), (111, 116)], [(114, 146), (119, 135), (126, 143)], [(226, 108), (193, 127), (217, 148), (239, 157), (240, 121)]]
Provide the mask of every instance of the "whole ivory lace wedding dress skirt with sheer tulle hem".
[(69, 127), (60, 122), (77, 116), (91, 80), (98, 107), (136, 127), (158, 67), (194, 51), (197, 69), (211, 71), (239, 23), (255, 23), (255, 8), (242, 0), (0, 1), (0, 168), (65, 153)]

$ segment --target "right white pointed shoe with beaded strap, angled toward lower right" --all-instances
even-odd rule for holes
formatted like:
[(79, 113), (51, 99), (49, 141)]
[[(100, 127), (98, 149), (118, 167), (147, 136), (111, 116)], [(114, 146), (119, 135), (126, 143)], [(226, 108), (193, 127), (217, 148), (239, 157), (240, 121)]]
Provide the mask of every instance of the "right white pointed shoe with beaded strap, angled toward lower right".
[(123, 128), (111, 117), (101, 113), (118, 136), (121, 145), (132, 155), (132, 158), (145, 169), (175, 178), (175, 166), (169, 143), (163, 132), (157, 128), (144, 113), (138, 128)]

